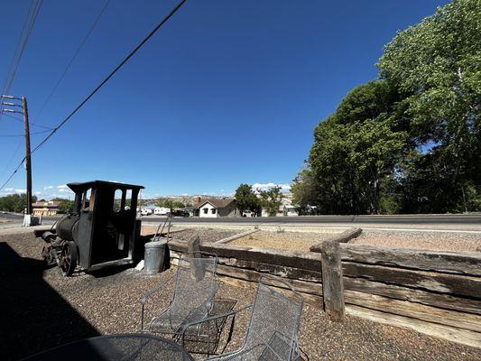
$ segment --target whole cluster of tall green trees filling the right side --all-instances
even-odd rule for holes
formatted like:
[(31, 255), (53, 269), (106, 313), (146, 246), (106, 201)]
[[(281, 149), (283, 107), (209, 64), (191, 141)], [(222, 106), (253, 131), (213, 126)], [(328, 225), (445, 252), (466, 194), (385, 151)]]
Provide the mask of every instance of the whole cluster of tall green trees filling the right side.
[(384, 47), (379, 79), (314, 129), (293, 201), (321, 214), (481, 210), (481, 6), (454, 0)]

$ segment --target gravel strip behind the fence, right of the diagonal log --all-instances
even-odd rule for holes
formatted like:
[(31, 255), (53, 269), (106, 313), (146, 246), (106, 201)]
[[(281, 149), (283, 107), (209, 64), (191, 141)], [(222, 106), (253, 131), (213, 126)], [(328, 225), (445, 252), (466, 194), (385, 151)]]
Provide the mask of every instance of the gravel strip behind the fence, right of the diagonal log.
[(349, 243), (452, 252), (481, 252), (481, 235), (467, 233), (363, 231)]

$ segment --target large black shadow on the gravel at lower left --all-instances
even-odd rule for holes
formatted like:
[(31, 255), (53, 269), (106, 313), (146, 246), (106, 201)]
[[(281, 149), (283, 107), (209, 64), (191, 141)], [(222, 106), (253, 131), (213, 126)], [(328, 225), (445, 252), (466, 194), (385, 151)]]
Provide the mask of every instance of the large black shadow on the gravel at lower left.
[(0, 359), (17, 360), (99, 332), (44, 282), (45, 264), (0, 242)]

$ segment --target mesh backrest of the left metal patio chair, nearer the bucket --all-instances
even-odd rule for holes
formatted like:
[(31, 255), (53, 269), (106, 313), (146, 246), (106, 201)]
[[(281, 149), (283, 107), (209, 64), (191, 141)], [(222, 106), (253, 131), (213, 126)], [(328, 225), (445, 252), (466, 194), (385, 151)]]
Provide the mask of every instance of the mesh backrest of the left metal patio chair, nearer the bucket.
[(210, 308), (217, 291), (217, 257), (195, 258), (182, 255), (172, 303), (185, 310)]

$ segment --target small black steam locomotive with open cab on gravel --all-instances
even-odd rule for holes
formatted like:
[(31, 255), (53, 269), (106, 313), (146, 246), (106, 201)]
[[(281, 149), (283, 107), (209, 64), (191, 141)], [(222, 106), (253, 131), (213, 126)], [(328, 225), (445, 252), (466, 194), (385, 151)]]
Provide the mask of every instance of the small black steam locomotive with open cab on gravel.
[(55, 231), (42, 233), (48, 244), (42, 250), (47, 263), (58, 264), (64, 275), (133, 264), (139, 252), (135, 246), (141, 222), (136, 220), (136, 208), (143, 186), (104, 180), (68, 186), (75, 192), (73, 212), (60, 218)]

